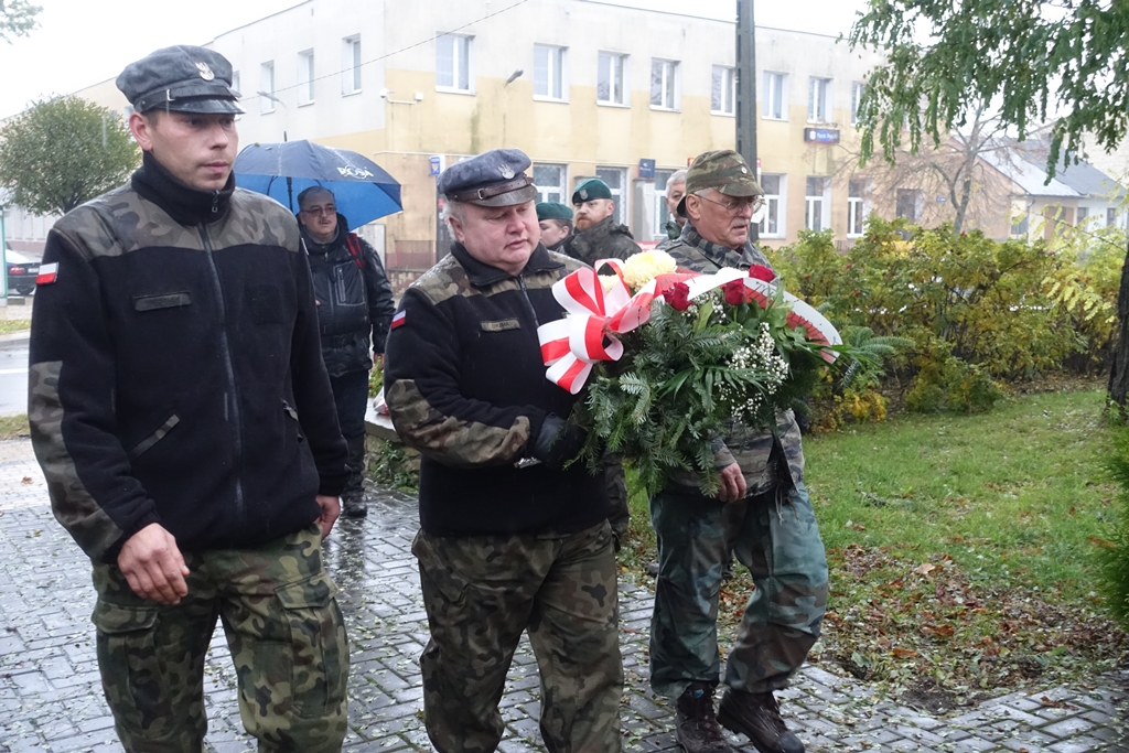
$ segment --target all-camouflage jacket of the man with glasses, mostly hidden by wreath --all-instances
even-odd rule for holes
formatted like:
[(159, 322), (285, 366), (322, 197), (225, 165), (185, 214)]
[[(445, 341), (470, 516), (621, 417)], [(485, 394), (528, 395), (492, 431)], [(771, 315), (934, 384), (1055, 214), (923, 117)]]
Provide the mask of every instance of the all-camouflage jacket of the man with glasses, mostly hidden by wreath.
[[(683, 226), (677, 240), (660, 247), (674, 257), (679, 266), (706, 274), (723, 266), (749, 269), (752, 264), (761, 264), (771, 269), (764, 254), (747, 240), (738, 253), (706, 240), (690, 222)], [(755, 434), (736, 421), (730, 422), (724, 444), (715, 441), (714, 449), (718, 469), (734, 462), (741, 465), (750, 494), (762, 493), (779, 483), (780, 473), (785, 472), (778, 466), (781, 461), (787, 463), (787, 473), (794, 482), (804, 480), (804, 448), (796, 417), (790, 410), (777, 414), (774, 434)], [(692, 474), (681, 474), (672, 479), (671, 491), (698, 493), (698, 479)]]

